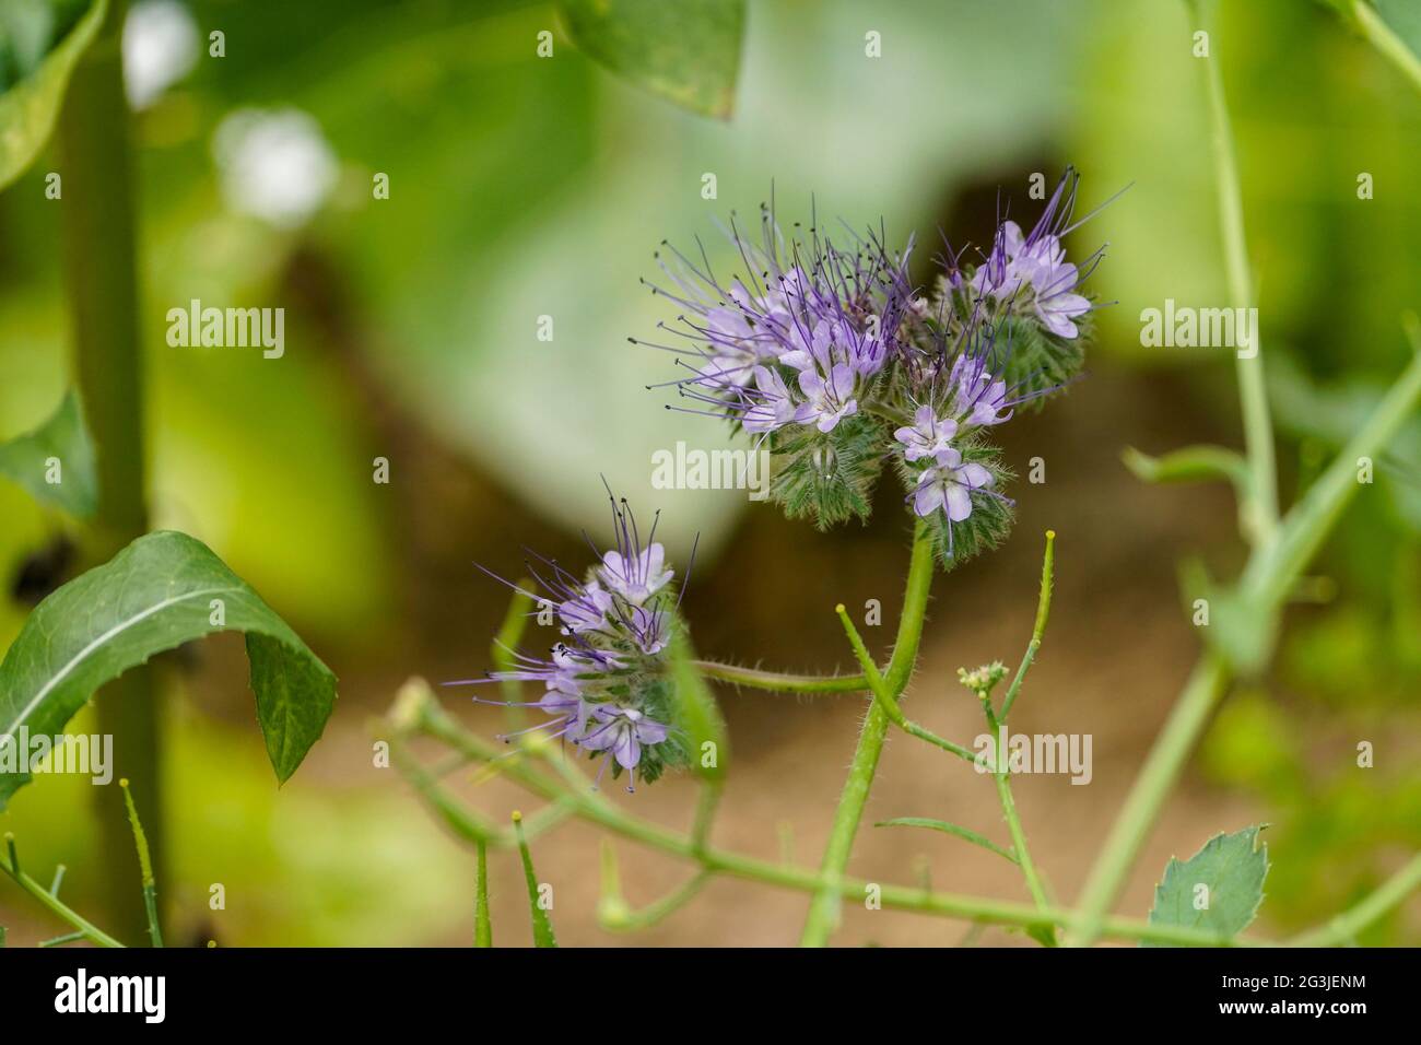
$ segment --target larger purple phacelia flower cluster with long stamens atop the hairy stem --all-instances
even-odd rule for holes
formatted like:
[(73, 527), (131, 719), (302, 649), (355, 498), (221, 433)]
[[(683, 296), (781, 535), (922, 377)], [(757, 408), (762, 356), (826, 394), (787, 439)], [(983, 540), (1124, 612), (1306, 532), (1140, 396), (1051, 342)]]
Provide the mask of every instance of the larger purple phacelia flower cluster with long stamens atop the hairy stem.
[(729, 280), (703, 247), (695, 263), (668, 249), (671, 289), (654, 291), (681, 307), (661, 324), (679, 343), (655, 347), (676, 354), (688, 375), (666, 384), (693, 401), (668, 408), (767, 448), (770, 499), (790, 518), (867, 519), (892, 462), (944, 564), (993, 546), (1013, 505), (990, 432), (1084, 364), (1093, 306), (1079, 287), (1101, 252), (1084, 272), (1066, 260), (1077, 182), (1067, 171), (1029, 233), (999, 220), (978, 264), (949, 247), (931, 287), (908, 276), (911, 239), (890, 253), (881, 232), (850, 235), (843, 250), (813, 223), (807, 240), (786, 236), (769, 208), (753, 242), (732, 222)]

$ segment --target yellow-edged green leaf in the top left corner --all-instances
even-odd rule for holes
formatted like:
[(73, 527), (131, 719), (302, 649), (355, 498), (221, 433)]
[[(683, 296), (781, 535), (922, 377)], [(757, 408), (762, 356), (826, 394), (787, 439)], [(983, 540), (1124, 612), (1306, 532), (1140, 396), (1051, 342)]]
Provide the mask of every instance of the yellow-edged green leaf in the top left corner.
[[(36, 68), (27, 68), (24, 37), (34, 31), (44, 33), (60, 18), (61, 6), (20, 4), (6, 9), (0, 16), (0, 64), (10, 65), (18, 74), (4, 94), (0, 94), (0, 189), (18, 178), (54, 131), (54, 121), (64, 104), (64, 88), (68, 87), (74, 64), (98, 34), (108, 11), (108, 0), (94, 0), (84, 17), (78, 18), (55, 40)], [(28, 31), (20, 27), (38, 27)], [(50, 36), (44, 33), (44, 36)], [(7, 70), (4, 70), (7, 71)], [(6, 75), (0, 82), (10, 81)]]

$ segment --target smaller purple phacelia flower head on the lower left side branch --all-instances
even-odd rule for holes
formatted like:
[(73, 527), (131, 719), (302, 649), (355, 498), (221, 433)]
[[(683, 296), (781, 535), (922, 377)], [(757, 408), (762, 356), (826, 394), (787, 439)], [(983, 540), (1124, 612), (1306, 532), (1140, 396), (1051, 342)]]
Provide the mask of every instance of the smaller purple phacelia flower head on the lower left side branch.
[[(537, 732), (561, 738), (593, 758), (610, 754), (597, 782), (611, 765), (612, 776), (627, 771), (634, 785), (638, 776), (651, 782), (668, 765), (686, 761), (682, 738), (672, 725), (674, 690), (666, 660), (672, 631), (681, 627), (676, 613), (685, 582), (679, 590), (671, 587), (675, 572), (655, 540), (655, 523), (644, 545), (627, 502), (612, 499), (612, 525), (617, 547), (598, 556), (585, 580), (541, 556), (534, 554), (526, 563), (547, 594), (523, 594), (543, 607), (556, 607), (561, 626), (563, 641), (553, 645), (546, 660), (510, 650), (516, 667), (449, 685), (541, 682), (546, 692), (536, 701), (479, 701), (531, 707), (550, 717), (503, 739)], [(489, 576), (522, 591), (497, 574)]]

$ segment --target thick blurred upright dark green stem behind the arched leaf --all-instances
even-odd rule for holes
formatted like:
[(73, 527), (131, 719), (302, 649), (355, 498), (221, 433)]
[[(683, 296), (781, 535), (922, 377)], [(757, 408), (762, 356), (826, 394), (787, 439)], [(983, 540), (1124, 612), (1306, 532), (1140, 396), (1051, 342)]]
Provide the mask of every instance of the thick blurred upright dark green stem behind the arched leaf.
[[(74, 68), (58, 134), (74, 370), (98, 471), (90, 564), (107, 562), (148, 529), (134, 156), (121, 57), (126, 9), (126, 0), (111, 0), (98, 37)], [(98, 729), (114, 736), (118, 768), (144, 785), (138, 812), (163, 877), (155, 698), (152, 668), (138, 667), (107, 685), (97, 704)], [(97, 788), (95, 795), (104, 849), (119, 853), (128, 846), (124, 799), (117, 788)], [(134, 901), (136, 869), (115, 862), (105, 880), (119, 933), (142, 936), (148, 920)]]

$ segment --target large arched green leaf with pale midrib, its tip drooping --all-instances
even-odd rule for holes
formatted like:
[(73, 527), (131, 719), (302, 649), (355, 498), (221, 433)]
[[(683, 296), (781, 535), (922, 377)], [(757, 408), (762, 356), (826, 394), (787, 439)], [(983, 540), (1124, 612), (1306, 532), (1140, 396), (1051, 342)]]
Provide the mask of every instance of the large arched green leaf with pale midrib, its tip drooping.
[[(63, 732), (101, 685), (213, 631), (247, 636), (257, 721), (284, 782), (325, 728), (335, 675), (206, 545), (175, 532), (139, 537), (36, 607), (0, 663), (0, 745), (21, 727)], [(0, 775), (0, 809), (28, 779)]]

